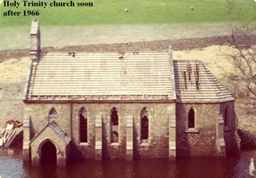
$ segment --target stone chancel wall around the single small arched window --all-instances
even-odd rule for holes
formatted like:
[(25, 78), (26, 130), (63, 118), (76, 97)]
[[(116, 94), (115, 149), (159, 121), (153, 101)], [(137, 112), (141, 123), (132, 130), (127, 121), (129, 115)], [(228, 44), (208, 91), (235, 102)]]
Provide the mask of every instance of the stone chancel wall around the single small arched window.
[[(189, 109), (195, 111), (195, 129), (187, 128)], [(219, 104), (176, 105), (177, 156), (218, 156), (216, 120)]]

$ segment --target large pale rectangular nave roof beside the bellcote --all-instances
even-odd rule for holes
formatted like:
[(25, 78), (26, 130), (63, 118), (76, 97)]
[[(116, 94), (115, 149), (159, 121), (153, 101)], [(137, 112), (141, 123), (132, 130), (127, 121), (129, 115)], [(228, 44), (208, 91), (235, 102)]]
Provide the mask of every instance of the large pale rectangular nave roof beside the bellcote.
[(169, 53), (41, 53), (27, 101), (173, 100)]

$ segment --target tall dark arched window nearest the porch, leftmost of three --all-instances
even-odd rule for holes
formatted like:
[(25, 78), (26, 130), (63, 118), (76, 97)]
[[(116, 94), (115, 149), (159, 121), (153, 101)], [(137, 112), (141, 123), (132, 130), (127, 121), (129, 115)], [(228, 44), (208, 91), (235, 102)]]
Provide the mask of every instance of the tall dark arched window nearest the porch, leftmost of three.
[(84, 107), (82, 107), (79, 110), (79, 121), (80, 121), (80, 127), (79, 127), (80, 142), (86, 143), (87, 142), (87, 112)]

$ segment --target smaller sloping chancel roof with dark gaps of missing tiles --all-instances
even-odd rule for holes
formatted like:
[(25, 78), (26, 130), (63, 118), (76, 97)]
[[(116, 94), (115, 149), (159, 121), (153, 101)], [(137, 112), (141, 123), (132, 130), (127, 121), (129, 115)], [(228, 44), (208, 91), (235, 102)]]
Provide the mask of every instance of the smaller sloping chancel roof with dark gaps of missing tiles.
[(174, 60), (174, 77), (178, 102), (234, 100), (202, 61)]

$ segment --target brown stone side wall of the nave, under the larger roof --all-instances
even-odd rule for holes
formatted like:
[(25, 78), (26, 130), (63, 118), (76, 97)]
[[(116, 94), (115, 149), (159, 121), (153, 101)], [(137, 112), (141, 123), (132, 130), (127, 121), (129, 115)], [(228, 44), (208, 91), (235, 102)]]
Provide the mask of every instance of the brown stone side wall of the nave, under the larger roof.
[[(133, 117), (133, 157), (168, 158), (169, 141), (175, 140), (175, 134), (169, 135), (170, 116), (175, 116), (175, 103), (26, 103), (24, 115), (30, 116), (30, 133), (33, 138), (46, 125), (46, 116), (50, 109), (57, 111), (54, 121), (71, 138), (71, 159), (95, 158), (95, 117), (102, 116), (102, 158), (126, 158), (126, 120)], [(79, 110), (87, 111), (87, 143), (79, 142)], [(118, 143), (110, 141), (110, 110), (118, 110)], [(141, 140), (140, 112), (146, 107), (149, 116), (149, 138), (146, 143)], [(71, 114), (70, 114), (71, 113)], [(72, 118), (70, 120), (70, 118)], [(169, 139), (170, 136), (170, 139)]]

